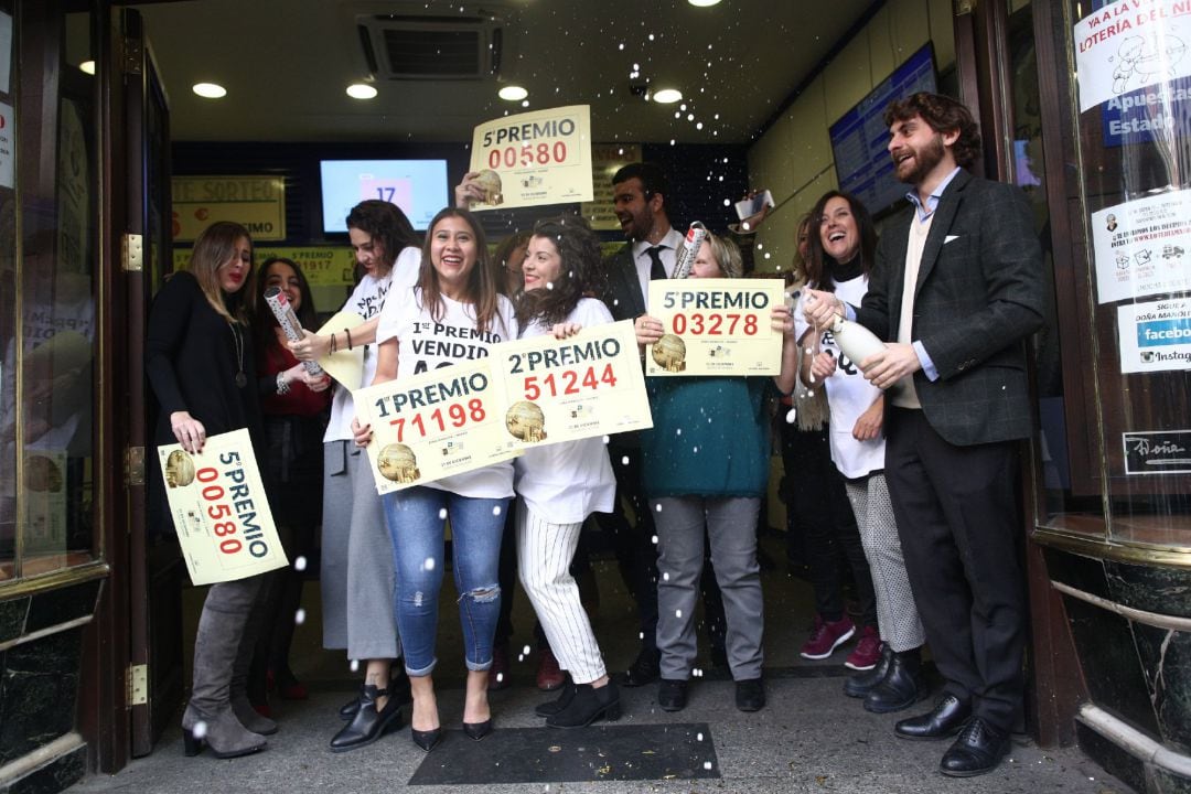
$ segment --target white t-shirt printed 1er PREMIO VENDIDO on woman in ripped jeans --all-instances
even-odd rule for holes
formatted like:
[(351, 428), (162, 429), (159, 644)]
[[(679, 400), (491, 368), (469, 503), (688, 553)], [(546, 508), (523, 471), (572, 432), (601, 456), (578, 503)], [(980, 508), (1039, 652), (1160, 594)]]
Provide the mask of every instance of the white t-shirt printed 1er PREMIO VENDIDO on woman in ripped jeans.
[[(461, 361), (485, 358), (492, 345), (517, 338), (513, 305), (504, 295), (498, 298), (497, 317), (484, 333), (475, 329), (474, 306), (461, 304), (445, 295), (442, 296), (442, 301), (444, 311), (442, 318), (437, 320), (430, 314), (430, 310), (422, 305), (422, 290), (417, 287), (407, 288), (385, 304), (376, 329), (376, 344), (397, 339), (398, 379), (450, 367)], [(426, 486), (474, 499), (512, 496), (512, 461), (453, 474), (428, 482)]]

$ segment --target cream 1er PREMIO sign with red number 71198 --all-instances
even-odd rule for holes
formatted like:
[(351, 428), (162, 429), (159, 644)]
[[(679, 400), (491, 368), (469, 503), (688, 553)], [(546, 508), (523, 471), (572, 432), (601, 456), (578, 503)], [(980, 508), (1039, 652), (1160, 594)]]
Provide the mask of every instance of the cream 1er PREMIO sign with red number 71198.
[(500, 426), (503, 394), (487, 360), (369, 386), (354, 396), (360, 420), (372, 425), (367, 452), (378, 493), (518, 455)]

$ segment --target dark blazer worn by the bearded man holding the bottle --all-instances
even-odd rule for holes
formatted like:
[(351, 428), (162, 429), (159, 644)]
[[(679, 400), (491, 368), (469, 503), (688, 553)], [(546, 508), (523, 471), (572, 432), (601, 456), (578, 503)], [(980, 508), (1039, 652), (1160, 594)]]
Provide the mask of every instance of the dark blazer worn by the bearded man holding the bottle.
[[(856, 319), (897, 339), (910, 207), (884, 230)], [(1042, 249), (1025, 194), (961, 170), (943, 192), (918, 268), (911, 339), (939, 379), (913, 375), (930, 426), (955, 445), (1027, 438), (1034, 430), (1024, 339), (1041, 327)]]

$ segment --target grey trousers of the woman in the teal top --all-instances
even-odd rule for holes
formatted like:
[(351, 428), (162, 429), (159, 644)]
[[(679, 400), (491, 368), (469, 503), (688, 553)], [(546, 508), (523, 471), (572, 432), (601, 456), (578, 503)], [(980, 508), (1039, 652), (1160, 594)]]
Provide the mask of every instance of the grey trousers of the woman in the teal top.
[(765, 629), (756, 563), (759, 498), (666, 496), (650, 500), (657, 527), (657, 649), (662, 677), (691, 677), (697, 652), (694, 606), (703, 574), (704, 533), (724, 599), (724, 637), (732, 679), (761, 676)]

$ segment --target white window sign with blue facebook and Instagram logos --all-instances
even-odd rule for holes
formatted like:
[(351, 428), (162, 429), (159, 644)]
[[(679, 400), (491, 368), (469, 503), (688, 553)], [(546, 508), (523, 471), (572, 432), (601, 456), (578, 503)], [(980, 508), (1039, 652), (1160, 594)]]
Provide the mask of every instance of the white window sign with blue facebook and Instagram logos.
[(1191, 299), (1117, 307), (1122, 373), (1191, 369)]

